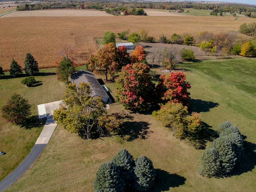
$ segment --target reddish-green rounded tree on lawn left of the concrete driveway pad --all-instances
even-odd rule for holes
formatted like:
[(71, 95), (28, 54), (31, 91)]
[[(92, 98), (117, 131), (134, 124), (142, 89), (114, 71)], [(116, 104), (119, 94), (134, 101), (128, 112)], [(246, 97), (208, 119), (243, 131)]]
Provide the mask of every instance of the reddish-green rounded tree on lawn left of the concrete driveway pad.
[(2, 117), (7, 122), (22, 124), (31, 115), (31, 105), (21, 95), (14, 93), (2, 107)]

